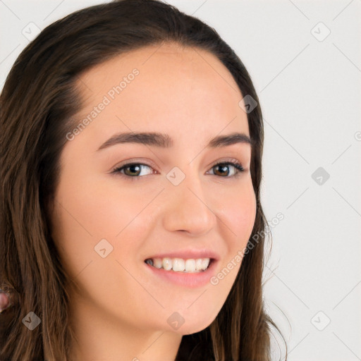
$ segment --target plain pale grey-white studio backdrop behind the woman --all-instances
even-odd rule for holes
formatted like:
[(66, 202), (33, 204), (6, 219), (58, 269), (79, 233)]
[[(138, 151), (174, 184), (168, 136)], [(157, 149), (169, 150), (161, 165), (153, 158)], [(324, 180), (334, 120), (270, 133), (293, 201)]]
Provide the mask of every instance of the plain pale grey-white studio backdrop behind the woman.
[[(264, 297), (288, 360), (361, 360), (361, 1), (168, 3), (214, 27), (259, 94), (273, 239)], [(95, 4), (0, 0), (1, 89), (39, 30)]]

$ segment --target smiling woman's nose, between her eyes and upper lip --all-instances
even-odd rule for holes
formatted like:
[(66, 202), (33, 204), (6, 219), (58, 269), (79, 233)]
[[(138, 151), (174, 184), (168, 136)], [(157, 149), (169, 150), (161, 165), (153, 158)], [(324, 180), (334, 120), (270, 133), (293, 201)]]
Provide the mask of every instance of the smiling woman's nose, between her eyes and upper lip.
[(199, 179), (186, 176), (179, 185), (169, 184), (164, 192), (163, 226), (167, 231), (190, 235), (207, 234), (216, 224), (216, 215)]

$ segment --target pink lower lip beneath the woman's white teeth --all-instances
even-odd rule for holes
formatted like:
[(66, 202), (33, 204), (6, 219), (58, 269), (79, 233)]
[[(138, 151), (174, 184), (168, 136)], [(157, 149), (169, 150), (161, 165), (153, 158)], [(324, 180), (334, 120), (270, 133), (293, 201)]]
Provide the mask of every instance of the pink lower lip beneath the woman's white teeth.
[(166, 271), (162, 268), (156, 268), (150, 264), (145, 263), (145, 266), (155, 275), (159, 276), (165, 281), (174, 283), (178, 286), (188, 287), (188, 288), (198, 288), (206, 286), (209, 284), (209, 279), (214, 275), (214, 270), (216, 263), (218, 261), (213, 260), (209, 267), (205, 271), (200, 271), (198, 273), (186, 273), (186, 272), (177, 272), (177, 271)]

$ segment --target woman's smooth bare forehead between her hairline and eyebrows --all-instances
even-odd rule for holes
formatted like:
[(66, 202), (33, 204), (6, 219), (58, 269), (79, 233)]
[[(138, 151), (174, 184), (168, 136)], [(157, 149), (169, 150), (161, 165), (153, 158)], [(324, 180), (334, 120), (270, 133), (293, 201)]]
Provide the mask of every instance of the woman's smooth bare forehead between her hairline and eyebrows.
[(238, 105), (243, 94), (226, 66), (203, 49), (157, 44), (129, 51), (86, 71), (78, 85), (85, 103), (75, 117), (89, 115), (104, 97), (109, 101), (90, 127), (98, 134), (157, 126), (173, 134), (225, 127), (248, 133)]

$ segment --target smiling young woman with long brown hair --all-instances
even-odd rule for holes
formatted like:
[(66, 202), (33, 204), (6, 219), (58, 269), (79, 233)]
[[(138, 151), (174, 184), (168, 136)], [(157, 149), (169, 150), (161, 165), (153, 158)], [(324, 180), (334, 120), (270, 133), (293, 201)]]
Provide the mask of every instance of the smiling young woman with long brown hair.
[(1, 104), (1, 360), (271, 360), (252, 80), (155, 0), (72, 13)]

